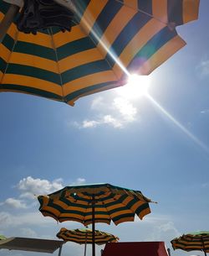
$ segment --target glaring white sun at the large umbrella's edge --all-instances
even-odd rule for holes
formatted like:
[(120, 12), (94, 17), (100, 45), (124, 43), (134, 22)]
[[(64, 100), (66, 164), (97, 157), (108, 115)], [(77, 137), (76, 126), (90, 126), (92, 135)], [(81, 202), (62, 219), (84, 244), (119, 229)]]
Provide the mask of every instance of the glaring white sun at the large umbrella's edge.
[(120, 96), (135, 99), (148, 94), (150, 76), (130, 75), (127, 84), (117, 88)]

